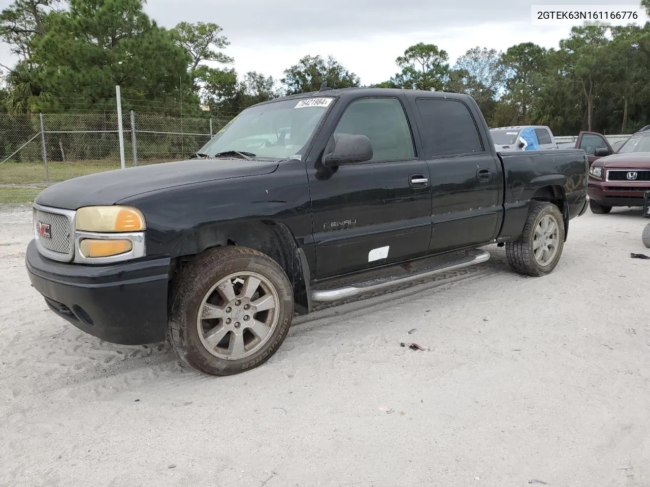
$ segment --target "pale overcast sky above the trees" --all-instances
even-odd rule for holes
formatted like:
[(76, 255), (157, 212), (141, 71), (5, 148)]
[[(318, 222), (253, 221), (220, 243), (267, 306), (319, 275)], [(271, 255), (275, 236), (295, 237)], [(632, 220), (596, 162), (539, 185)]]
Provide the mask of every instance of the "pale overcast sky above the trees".
[[(0, 0), (0, 9), (10, 5)], [(436, 5), (438, 4), (438, 5)], [(424, 42), (447, 51), (451, 64), (475, 46), (504, 50), (520, 42), (557, 47), (567, 23), (532, 23), (532, 5), (561, 0), (149, 0), (146, 11), (165, 27), (179, 21), (220, 25), (239, 73), (260, 71), (279, 79), (304, 55), (333, 55), (362, 84), (387, 80), (395, 58)], [(634, 6), (638, 0), (573, 0), (571, 5)], [(579, 23), (579, 22), (578, 22)], [(10, 64), (6, 45), (0, 62)]]

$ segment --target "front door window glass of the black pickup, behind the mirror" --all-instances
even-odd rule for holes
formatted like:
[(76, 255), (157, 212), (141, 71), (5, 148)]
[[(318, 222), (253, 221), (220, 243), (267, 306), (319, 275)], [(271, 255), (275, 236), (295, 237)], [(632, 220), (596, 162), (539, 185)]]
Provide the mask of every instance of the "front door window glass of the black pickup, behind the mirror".
[(415, 158), (411, 129), (396, 98), (353, 101), (343, 112), (334, 133), (365, 135), (372, 144), (372, 160)]

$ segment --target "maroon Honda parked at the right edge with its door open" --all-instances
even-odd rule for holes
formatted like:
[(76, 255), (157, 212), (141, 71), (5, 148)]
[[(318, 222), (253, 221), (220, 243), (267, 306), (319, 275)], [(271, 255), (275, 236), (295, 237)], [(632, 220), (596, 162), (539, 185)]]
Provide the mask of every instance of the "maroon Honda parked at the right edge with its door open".
[(643, 206), (643, 193), (650, 190), (650, 131), (636, 132), (616, 153), (601, 134), (591, 132), (590, 136), (603, 140), (601, 147), (593, 149), (589, 169), (591, 212), (609, 213), (612, 206)]

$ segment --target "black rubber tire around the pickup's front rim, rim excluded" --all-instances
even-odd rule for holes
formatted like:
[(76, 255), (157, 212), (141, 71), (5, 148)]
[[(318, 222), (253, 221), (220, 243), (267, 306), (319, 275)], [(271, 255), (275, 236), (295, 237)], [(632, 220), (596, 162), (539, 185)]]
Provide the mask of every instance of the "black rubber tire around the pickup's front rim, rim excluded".
[[(203, 306), (203, 299), (208, 293), (216, 295), (217, 299), (220, 298), (217, 290), (211, 292), (211, 289), (218, 282), (229, 275), (246, 272), (263, 277), (272, 286), (276, 293), (272, 295), (272, 298), (274, 296), (277, 298), (274, 299), (274, 301), (277, 301), (274, 308), (277, 312), (277, 319), (272, 320), (274, 327), (269, 327), (268, 338), (265, 338), (266, 342), (261, 344), (261, 348), (243, 358), (221, 358), (211, 353), (203, 344), (199, 332), (198, 312)], [(235, 288), (233, 287), (233, 289)], [(239, 295), (243, 292), (244, 289), (242, 288)], [(248, 302), (252, 303), (253, 300), (250, 299)], [(220, 306), (226, 305), (222, 304)], [(239, 308), (242, 308), (242, 306), (239, 306)], [(183, 270), (176, 286), (174, 286), (172, 297), (170, 297), (167, 339), (181, 362), (212, 375), (233, 375), (260, 366), (276, 353), (291, 326), (293, 308), (291, 283), (283, 269), (272, 258), (247, 247), (215, 247), (203, 252), (190, 262)], [(252, 325), (257, 318), (252, 311), (246, 313), (251, 313), (249, 318), (252, 318), (252, 321), (249, 321), (248, 324)], [(220, 327), (226, 328), (224, 319), (214, 321), (216, 321), (214, 329), (217, 329), (219, 324)], [(211, 321), (211, 323), (214, 321)], [(203, 327), (203, 324), (204, 321), (201, 321), (201, 327)], [(239, 321), (237, 325), (239, 325)], [(234, 323), (229, 325), (229, 327), (231, 326), (234, 326)], [(239, 332), (242, 336), (245, 330), (250, 332), (250, 329), (240, 326)], [(234, 329), (227, 332), (226, 336), (229, 337), (227, 340), (231, 340), (234, 333)], [(251, 336), (253, 341), (257, 340), (252, 332)], [(243, 341), (244, 338), (242, 338)], [(214, 350), (216, 350), (216, 347)]]

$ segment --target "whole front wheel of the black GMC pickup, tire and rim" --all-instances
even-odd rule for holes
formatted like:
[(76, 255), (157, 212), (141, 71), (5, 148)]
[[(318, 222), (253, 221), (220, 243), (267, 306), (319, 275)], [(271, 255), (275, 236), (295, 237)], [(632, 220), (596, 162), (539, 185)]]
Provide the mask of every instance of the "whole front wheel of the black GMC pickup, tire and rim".
[(292, 318), (291, 283), (272, 258), (247, 247), (216, 247), (183, 271), (167, 338), (186, 364), (233, 375), (276, 353)]

